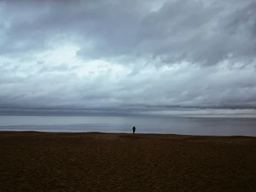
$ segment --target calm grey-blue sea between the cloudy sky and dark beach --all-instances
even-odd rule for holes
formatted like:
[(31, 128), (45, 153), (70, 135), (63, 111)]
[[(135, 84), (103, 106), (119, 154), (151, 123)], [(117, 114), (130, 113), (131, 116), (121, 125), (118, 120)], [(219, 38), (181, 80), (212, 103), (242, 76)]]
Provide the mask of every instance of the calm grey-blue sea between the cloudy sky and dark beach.
[(0, 131), (132, 132), (256, 136), (256, 118), (0, 116)]

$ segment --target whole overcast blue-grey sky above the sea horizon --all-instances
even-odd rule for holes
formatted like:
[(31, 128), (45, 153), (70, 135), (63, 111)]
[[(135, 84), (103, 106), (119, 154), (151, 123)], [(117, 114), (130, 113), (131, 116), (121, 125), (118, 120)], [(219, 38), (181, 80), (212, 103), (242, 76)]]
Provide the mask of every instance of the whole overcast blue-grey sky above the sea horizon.
[(0, 0), (0, 114), (256, 116), (255, 13), (255, 0)]

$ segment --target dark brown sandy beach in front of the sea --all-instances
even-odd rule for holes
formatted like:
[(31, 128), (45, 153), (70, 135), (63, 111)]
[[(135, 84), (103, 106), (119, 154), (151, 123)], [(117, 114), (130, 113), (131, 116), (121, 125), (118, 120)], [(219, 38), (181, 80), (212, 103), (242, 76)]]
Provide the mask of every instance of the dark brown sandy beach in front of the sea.
[(256, 138), (0, 132), (0, 191), (256, 191)]

